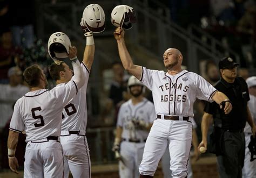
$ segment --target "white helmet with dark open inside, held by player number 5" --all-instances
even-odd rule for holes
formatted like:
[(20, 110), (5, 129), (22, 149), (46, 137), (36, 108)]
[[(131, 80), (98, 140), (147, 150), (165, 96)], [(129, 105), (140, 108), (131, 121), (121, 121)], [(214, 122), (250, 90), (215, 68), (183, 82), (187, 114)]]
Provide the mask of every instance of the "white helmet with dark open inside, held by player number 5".
[(57, 65), (59, 60), (56, 58), (68, 58), (69, 47), (71, 47), (71, 42), (68, 35), (63, 32), (51, 34), (48, 40), (48, 53)]

